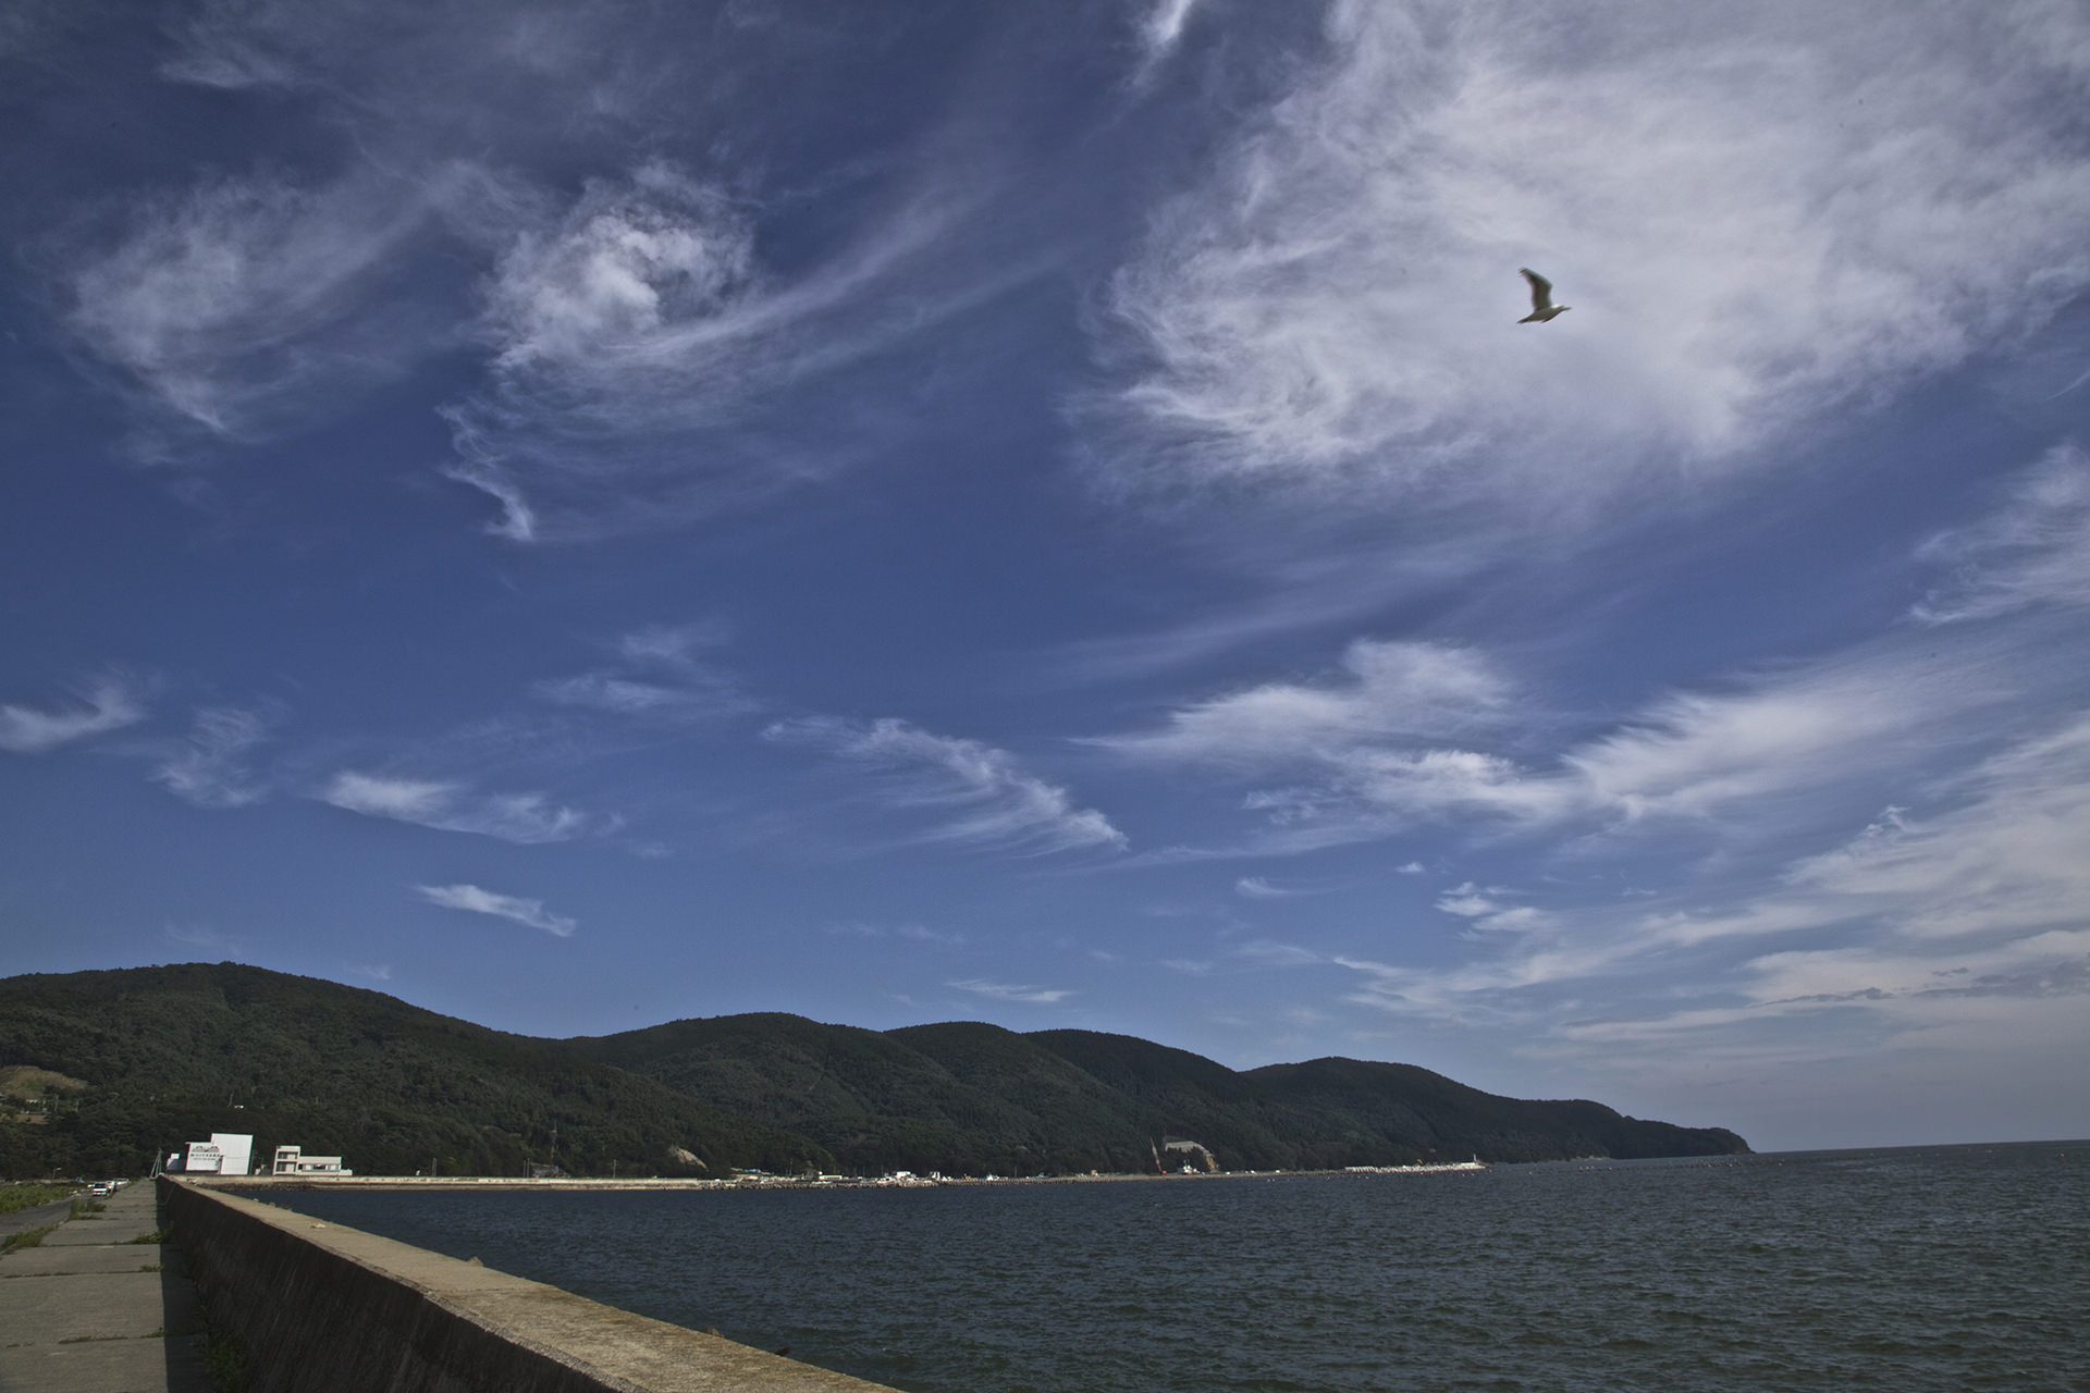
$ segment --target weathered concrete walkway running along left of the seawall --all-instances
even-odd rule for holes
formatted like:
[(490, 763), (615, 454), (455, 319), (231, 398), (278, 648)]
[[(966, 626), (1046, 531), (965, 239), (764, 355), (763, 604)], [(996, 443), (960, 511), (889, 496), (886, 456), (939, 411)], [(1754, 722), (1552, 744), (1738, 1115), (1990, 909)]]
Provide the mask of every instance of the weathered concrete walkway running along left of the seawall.
[(102, 1203), (0, 1257), (0, 1393), (209, 1393), (182, 1253), (136, 1243), (159, 1228), (153, 1186)]

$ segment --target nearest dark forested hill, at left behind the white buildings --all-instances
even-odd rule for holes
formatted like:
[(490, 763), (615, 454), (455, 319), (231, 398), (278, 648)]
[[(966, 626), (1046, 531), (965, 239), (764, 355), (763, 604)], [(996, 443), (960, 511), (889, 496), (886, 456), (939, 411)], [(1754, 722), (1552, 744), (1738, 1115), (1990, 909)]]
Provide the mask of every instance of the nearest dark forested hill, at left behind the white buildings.
[[(238, 963), (0, 979), (0, 1065), (82, 1080), (0, 1124), (0, 1174), (140, 1174), (209, 1132), (364, 1174), (725, 1174), (830, 1157), (648, 1078), (380, 992)], [(265, 1151), (257, 1151), (265, 1155)], [(694, 1159), (690, 1159), (694, 1157)]]

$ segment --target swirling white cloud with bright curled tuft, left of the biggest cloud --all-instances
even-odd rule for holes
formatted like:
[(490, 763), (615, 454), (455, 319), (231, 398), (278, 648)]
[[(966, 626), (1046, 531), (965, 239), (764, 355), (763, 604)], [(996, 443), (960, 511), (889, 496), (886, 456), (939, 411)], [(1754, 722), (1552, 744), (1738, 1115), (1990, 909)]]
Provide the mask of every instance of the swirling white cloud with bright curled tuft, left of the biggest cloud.
[[(508, 228), (479, 322), (493, 380), (445, 409), (445, 472), (502, 503), (489, 530), (656, 526), (819, 476), (849, 449), (750, 418), (966, 301), (915, 284), (949, 226), (934, 198), (798, 278), (763, 265), (754, 213), (667, 163), (591, 180), (558, 213), (514, 198), (487, 213)], [(901, 282), (909, 294), (876, 294)]]

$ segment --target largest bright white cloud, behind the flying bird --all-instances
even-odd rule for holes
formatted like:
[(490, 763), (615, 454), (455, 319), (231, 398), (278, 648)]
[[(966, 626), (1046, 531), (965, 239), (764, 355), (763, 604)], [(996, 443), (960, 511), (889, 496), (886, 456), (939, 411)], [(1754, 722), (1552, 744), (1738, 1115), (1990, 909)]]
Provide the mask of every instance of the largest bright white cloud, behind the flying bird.
[[(1097, 457), (1542, 510), (1950, 368), (2090, 284), (2090, 17), (1342, 0), (1110, 286)], [(1519, 265), (1576, 309), (1517, 326)]]

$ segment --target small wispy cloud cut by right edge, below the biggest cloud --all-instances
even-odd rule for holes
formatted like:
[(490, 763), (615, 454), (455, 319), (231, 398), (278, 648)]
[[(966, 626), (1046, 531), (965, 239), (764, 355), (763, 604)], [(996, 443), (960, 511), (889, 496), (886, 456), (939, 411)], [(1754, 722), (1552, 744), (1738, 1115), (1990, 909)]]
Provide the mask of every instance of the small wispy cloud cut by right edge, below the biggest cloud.
[(1927, 624), (2090, 604), (2090, 455), (2080, 445), (2054, 447), (2002, 507), (1940, 533), (1917, 556), (1952, 568), (1912, 610)]

